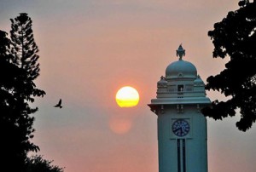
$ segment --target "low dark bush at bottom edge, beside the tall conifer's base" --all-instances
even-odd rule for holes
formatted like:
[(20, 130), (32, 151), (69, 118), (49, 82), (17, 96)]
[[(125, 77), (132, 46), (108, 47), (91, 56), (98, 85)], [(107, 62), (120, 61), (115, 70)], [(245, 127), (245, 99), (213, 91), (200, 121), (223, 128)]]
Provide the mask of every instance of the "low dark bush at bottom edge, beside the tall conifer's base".
[(26, 172), (63, 172), (64, 168), (52, 165), (53, 161), (45, 160), (42, 155), (34, 155), (26, 159)]

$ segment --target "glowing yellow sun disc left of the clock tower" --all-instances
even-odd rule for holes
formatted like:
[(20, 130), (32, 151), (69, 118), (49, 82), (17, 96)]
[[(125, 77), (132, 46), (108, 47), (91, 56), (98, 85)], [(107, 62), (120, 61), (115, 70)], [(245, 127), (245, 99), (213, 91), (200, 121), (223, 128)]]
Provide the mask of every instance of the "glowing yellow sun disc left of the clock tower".
[(137, 106), (139, 94), (137, 90), (131, 86), (125, 86), (118, 90), (115, 95), (115, 100), (120, 107)]

